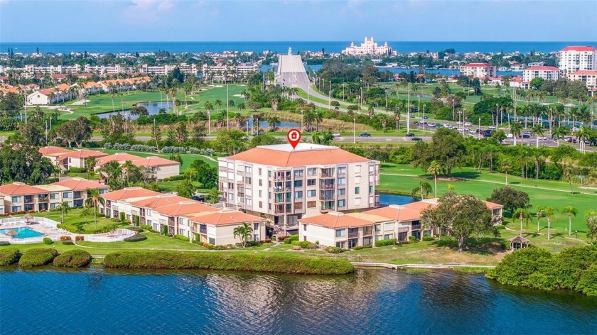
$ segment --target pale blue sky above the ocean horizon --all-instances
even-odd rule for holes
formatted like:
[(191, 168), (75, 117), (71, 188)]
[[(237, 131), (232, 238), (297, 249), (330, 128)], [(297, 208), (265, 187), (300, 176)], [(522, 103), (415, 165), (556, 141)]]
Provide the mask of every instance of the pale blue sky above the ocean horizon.
[(595, 41), (597, 0), (0, 0), (0, 42)]

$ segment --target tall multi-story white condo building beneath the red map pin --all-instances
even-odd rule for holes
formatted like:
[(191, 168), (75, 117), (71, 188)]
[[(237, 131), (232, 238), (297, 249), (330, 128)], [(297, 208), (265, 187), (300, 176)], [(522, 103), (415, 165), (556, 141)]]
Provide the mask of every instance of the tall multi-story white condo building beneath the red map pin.
[(328, 145), (261, 145), (218, 158), (219, 187), (228, 206), (264, 215), (277, 229), (298, 219), (379, 205), (380, 162)]

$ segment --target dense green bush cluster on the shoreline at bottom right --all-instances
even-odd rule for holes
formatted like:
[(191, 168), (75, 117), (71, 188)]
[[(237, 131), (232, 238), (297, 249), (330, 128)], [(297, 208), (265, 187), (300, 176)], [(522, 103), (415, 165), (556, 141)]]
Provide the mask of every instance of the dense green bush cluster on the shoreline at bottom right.
[(529, 246), (505, 256), (487, 277), (502, 284), (597, 295), (596, 267), (597, 248), (594, 246), (566, 248), (556, 254)]

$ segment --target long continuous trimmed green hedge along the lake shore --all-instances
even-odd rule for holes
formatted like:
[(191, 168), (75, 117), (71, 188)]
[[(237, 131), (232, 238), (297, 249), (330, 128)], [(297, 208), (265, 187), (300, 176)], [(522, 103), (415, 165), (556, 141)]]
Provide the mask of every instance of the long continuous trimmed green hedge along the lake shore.
[(264, 253), (192, 253), (172, 251), (127, 251), (104, 258), (107, 268), (128, 269), (204, 269), (294, 273), (306, 275), (343, 275), (355, 268), (348, 260)]

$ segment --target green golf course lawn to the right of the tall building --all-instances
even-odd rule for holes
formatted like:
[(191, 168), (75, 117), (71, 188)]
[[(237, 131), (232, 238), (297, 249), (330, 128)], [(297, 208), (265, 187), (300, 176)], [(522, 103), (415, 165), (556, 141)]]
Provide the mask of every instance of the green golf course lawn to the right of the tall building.
[[(410, 165), (396, 165), (383, 163), (380, 178), (380, 192), (397, 192), (401, 194), (410, 194), (410, 192), (419, 185), (419, 182), (426, 181), (434, 187), (434, 180), (431, 175), (424, 174), (420, 168)], [(488, 171), (478, 172), (473, 168), (461, 168), (453, 171), (454, 178), (467, 178), (466, 180), (438, 180), (438, 195), (448, 192), (448, 184), (455, 187), (455, 191), (461, 194), (473, 194), (480, 199), (486, 199), (491, 195), (495, 188), (505, 186), (505, 175)], [(584, 213), (588, 209), (597, 209), (597, 190), (584, 190), (573, 185), (576, 192), (571, 194), (567, 182), (558, 182), (554, 180), (525, 180), (522, 177), (508, 176), (508, 184), (517, 190), (525, 191), (533, 205), (530, 212), (534, 214), (534, 207), (551, 206), (556, 209), (562, 209), (571, 205), (579, 209), (579, 216), (572, 217), (572, 230), (579, 231), (579, 238), (586, 238), (586, 221)], [(582, 193), (581, 193), (582, 192)], [(432, 197), (433, 194), (430, 194)], [(510, 218), (505, 221), (511, 222)], [(537, 221), (534, 222), (534, 230), (537, 230)], [(516, 221), (514, 229), (517, 229), (519, 221)], [(547, 221), (542, 219), (542, 233), (547, 234)], [(552, 234), (564, 234), (568, 227), (568, 216), (558, 213), (556, 220), (552, 221)], [(531, 227), (532, 228), (532, 227)]]

